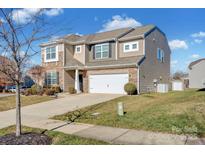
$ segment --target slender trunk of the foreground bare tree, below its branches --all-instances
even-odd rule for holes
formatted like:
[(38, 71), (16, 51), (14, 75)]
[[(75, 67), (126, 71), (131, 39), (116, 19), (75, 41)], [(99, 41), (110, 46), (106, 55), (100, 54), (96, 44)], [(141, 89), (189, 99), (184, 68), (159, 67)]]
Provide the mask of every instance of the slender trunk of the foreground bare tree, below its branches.
[(16, 83), (16, 136), (21, 135), (21, 99), (20, 84)]

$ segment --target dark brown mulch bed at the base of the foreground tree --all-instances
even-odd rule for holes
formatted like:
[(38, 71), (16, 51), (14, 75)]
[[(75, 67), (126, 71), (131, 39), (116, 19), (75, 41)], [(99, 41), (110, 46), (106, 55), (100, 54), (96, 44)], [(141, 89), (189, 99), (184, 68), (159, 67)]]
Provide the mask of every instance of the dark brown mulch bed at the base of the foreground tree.
[(52, 139), (45, 134), (24, 133), (16, 137), (15, 133), (0, 137), (0, 145), (50, 145)]

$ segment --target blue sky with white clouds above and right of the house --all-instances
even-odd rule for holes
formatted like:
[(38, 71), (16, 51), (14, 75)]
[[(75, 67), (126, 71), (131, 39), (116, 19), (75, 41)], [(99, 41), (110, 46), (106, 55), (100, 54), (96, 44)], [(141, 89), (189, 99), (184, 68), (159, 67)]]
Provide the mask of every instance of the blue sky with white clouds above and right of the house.
[[(66, 22), (69, 29), (60, 35), (154, 24), (167, 35), (172, 49), (171, 70), (175, 72), (186, 71), (191, 61), (205, 57), (204, 14), (205, 9), (61, 9), (47, 14), (47, 18)], [(41, 63), (40, 55), (33, 61)]]

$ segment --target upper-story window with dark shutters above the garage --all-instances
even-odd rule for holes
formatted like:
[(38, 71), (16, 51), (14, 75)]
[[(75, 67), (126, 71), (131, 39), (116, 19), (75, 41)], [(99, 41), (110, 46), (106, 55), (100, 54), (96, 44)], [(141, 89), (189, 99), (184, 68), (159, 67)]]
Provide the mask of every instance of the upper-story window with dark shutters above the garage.
[(109, 43), (95, 45), (95, 58), (103, 59), (109, 57)]

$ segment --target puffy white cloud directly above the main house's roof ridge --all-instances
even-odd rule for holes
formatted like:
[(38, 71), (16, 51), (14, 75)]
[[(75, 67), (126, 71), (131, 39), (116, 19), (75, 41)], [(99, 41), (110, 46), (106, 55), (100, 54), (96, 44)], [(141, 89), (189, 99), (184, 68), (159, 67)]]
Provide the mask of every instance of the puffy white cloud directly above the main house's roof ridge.
[(102, 29), (99, 32), (110, 31), (125, 27), (137, 27), (141, 25), (142, 24), (134, 18), (115, 15), (112, 17), (111, 20), (108, 20), (105, 24), (102, 25)]

